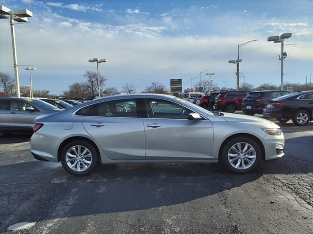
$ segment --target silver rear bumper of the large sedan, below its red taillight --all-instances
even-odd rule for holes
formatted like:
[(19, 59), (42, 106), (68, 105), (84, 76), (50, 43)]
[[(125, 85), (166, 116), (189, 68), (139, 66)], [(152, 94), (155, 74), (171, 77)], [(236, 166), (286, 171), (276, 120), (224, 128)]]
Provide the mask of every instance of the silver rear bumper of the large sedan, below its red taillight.
[(58, 139), (34, 133), (30, 138), (31, 154), (38, 160), (58, 162), (60, 144), (61, 141)]

